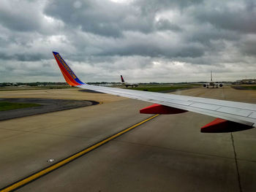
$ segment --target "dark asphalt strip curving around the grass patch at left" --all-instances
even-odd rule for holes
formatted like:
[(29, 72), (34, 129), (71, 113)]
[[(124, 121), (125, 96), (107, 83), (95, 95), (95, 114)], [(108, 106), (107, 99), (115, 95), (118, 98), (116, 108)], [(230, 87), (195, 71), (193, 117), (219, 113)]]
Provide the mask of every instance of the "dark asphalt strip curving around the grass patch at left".
[(41, 104), (39, 107), (27, 107), (16, 110), (0, 111), (0, 120), (9, 120), (13, 118), (23, 118), (31, 115), (39, 115), (47, 112), (56, 112), (61, 110), (70, 110), (78, 107), (86, 107), (99, 104), (97, 101), (78, 101), (67, 99), (0, 99), (13, 103), (31, 103)]

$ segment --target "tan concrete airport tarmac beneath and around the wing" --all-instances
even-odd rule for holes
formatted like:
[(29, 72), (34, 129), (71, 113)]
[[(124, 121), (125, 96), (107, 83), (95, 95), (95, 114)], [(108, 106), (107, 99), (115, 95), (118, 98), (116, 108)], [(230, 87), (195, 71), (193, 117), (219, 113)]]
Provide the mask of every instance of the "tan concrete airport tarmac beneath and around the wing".
[[(174, 93), (256, 103), (256, 91), (229, 87)], [(76, 89), (0, 92), (13, 97), (100, 104), (0, 122), (0, 188), (151, 117), (139, 113), (150, 103)], [(256, 129), (200, 133), (211, 120), (159, 115), (18, 191), (256, 191)]]

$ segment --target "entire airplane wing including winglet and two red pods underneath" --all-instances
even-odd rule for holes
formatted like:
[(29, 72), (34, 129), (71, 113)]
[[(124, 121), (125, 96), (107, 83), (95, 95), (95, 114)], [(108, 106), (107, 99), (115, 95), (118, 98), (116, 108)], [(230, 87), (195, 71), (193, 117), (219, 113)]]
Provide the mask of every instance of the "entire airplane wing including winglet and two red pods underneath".
[(53, 55), (69, 85), (154, 103), (140, 110), (140, 113), (178, 114), (190, 111), (217, 118), (203, 126), (201, 132), (241, 131), (255, 126), (256, 104), (88, 85), (79, 80), (59, 53), (53, 52)]

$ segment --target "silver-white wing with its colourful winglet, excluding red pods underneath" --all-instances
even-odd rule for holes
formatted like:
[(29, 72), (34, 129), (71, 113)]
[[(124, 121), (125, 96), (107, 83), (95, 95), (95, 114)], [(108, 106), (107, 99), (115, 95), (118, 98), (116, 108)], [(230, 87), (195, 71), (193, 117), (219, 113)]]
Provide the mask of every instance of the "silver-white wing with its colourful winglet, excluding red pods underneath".
[(154, 104), (161, 104), (181, 110), (197, 112), (203, 115), (209, 115), (212, 117), (241, 123), (246, 126), (255, 126), (256, 104), (88, 85), (79, 80), (64, 59), (61, 58), (59, 53), (53, 52), (53, 55), (56, 58), (57, 64), (59, 65), (59, 68), (61, 69), (61, 72), (69, 85), (92, 91), (109, 93), (116, 96), (124, 96), (131, 99), (148, 101)]

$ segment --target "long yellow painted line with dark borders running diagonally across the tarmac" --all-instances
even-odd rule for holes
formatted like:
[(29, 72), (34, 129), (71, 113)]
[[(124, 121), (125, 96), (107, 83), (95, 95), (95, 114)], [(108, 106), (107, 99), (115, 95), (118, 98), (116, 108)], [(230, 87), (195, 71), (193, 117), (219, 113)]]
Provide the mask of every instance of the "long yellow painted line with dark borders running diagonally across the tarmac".
[(110, 137), (108, 137), (107, 139), (104, 139), (101, 142), (97, 142), (97, 144), (92, 145), (91, 147), (88, 147), (85, 150), (82, 150), (79, 153), (76, 153), (75, 155), (72, 155), (72, 156), (70, 156), (68, 158), (65, 158), (62, 161), (59, 161), (59, 163), (56, 163), (56, 164), (54, 164), (52, 166), (49, 166), (48, 168), (43, 169), (43, 170), (41, 170), (41, 171), (39, 171), (39, 172), (37, 172), (35, 174), (32, 174), (31, 176), (26, 177), (23, 180), (20, 180), (20, 181), (18, 181), (16, 183), (13, 183), (12, 185), (9, 185), (6, 188), (3, 188), (1, 190), (1, 192), (12, 191), (12, 190), (15, 190), (16, 188), (20, 188), (21, 186), (26, 185), (27, 183), (31, 182), (32, 180), (36, 180), (38, 177), (42, 177), (44, 174), (48, 174), (48, 172), (52, 172), (54, 169), (58, 169), (60, 166), (63, 166), (64, 164), (69, 163), (70, 161), (74, 160), (75, 158), (78, 158), (81, 155), (89, 153), (91, 150), (94, 150), (95, 148), (97, 148), (97, 147), (99, 147), (101, 145), (104, 145), (106, 142), (109, 142), (110, 140), (113, 140), (116, 137), (119, 137), (121, 134), (124, 134), (124, 133), (132, 130), (132, 128), (136, 128), (136, 127), (140, 126), (141, 124), (146, 123), (148, 120), (157, 118), (158, 115), (159, 114), (151, 116), (150, 118), (147, 118), (146, 120), (140, 121), (140, 123), (137, 123), (134, 126), (126, 128), (126, 129), (124, 129), (124, 131), (120, 131), (117, 134), (114, 134), (113, 136), (110, 136)]

